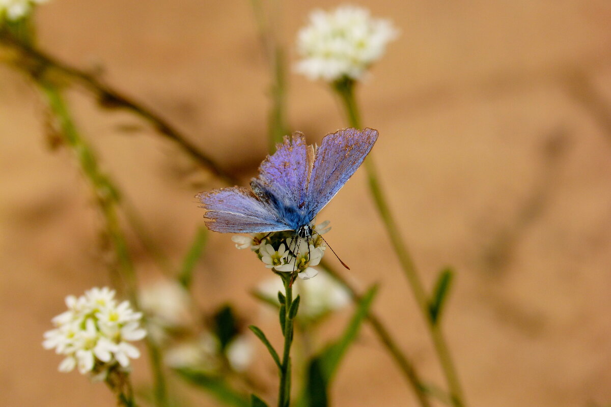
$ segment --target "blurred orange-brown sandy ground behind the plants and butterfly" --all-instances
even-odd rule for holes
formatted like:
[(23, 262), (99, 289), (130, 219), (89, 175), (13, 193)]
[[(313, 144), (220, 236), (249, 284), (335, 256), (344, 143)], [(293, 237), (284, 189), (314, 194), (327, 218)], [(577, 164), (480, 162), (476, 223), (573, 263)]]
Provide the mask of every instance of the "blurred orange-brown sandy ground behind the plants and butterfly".
[[(314, 7), (282, 5), (281, 38)], [(611, 403), (611, 4), (607, 1), (359, 1), (401, 30), (358, 89), (384, 189), (427, 287), (456, 278), (444, 329), (470, 406)], [(246, 185), (267, 153), (269, 67), (250, 2), (53, 0), (37, 9), (40, 45), (161, 113)], [(329, 90), (288, 75), (288, 121), (310, 142), (345, 127)], [(129, 113), (70, 93), (79, 127), (178, 264), (219, 187)], [(49, 148), (31, 82), (0, 65), (0, 388), (6, 406), (108, 406), (112, 394), (40, 345), (68, 294), (109, 284), (103, 222), (71, 154)], [(425, 325), (358, 171), (318, 220), (374, 309), (425, 378), (443, 383)], [(159, 277), (130, 236), (144, 283)], [(334, 262), (334, 259), (328, 258)], [(249, 294), (269, 277), (230, 235), (211, 233), (194, 292), (204, 310), (231, 302), (280, 340)], [(336, 334), (349, 311), (334, 316)], [(277, 376), (255, 343), (258, 380)], [(146, 358), (136, 384), (149, 379)], [(198, 395), (195, 405), (216, 402)], [(273, 397), (273, 396), (272, 396)], [(415, 399), (370, 328), (351, 348), (335, 406)]]

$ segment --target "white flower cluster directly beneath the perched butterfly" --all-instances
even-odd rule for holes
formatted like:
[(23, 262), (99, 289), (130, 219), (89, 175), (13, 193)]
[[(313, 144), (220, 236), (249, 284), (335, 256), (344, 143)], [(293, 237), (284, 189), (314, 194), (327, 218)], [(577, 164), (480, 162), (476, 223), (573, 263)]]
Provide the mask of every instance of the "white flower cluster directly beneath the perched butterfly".
[(292, 231), (284, 231), (254, 233), (251, 237), (233, 236), (232, 240), (236, 248), (250, 248), (257, 253), (265, 267), (277, 272), (296, 272), (299, 278), (307, 280), (318, 274), (313, 266), (320, 263), (327, 248), (320, 235), (331, 230), (328, 225), (327, 220), (312, 228), (313, 236), (310, 239), (296, 237)]

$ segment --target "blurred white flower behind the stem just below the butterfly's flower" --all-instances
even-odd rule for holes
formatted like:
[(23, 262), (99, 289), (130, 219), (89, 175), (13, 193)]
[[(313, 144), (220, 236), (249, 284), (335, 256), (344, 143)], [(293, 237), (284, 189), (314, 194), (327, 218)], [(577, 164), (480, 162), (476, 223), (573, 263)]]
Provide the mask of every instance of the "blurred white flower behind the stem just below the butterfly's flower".
[[(258, 286), (258, 292), (277, 303), (278, 292), (284, 293), (284, 285), (279, 278), (269, 278)], [(301, 296), (298, 319), (315, 320), (328, 312), (345, 307), (350, 294), (341, 284), (327, 273), (320, 272), (315, 279), (295, 281), (293, 296)]]

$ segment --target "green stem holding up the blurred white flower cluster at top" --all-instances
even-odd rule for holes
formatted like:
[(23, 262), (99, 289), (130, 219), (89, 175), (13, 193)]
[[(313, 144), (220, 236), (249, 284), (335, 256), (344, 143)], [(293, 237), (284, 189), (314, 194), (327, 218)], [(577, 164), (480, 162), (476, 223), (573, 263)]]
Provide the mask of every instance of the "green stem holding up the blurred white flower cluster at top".
[[(355, 82), (348, 78), (334, 83), (334, 90), (338, 93), (340, 99), (342, 99), (350, 126), (362, 128), (359, 108), (354, 95), (354, 87)], [(433, 340), (437, 357), (439, 358), (442, 370), (444, 371), (445, 380), (447, 381), (448, 388), (450, 390), (452, 404), (455, 407), (464, 407), (466, 405), (463, 401), (463, 390), (461, 389), (461, 385), (458, 381), (458, 375), (456, 374), (456, 369), (452, 362), (452, 356), (450, 356), (450, 350), (448, 349), (441, 326), (439, 323), (434, 323), (433, 320), (431, 320), (428, 306), (428, 296), (426, 295), (426, 291), (420, 276), (417, 273), (414, 261), (412, 260), (412, 257), (409, 254), (405, 243), (403, 242), (403, 238), (401, 237), (401, 233), (397, 226), (398, 223), (395, 221), (392, 212), (390, 212), (390, 207), (387, 203), (386, 196), (382, 191), (378, 173), (371, 154), (367, 157), (367, 159), (365, 159), (365, 171), (367, 171), (369, 190), (371, 196), (373, 197), (373, 201), (375, 202), (376, 209), (378, 210), (378, 213), (382, 218), (382, 222), (386, 227), (390, 242), (392, 243), (392, 247), (397, 254), (401, 268), (403, 269), (403, 273), (408, 279), (409, 286), (412, 289), (414, 298), (420, 308), (420, 312), (426, 320), (426, 326), (431, 335), (431, 339)]]

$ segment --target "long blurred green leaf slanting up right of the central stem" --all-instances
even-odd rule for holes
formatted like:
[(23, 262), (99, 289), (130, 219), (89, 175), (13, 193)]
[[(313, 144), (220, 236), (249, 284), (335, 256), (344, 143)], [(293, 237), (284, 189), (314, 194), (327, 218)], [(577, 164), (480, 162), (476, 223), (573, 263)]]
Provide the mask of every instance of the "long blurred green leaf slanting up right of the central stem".
[(371, 303), (378, 290), (371, 287), (357, 304), (354, 315), (346, 326), (342, 336), (327, 345), (323, 351), (310, 359), (305, 378), (304, 394), (301, 397), (301, 406), (325, 407), (327, 406), (329, 386), (337, 372), (343, 356), (349, 346), (353, 344), (359, 334), (360, 326), (367, 317)]

